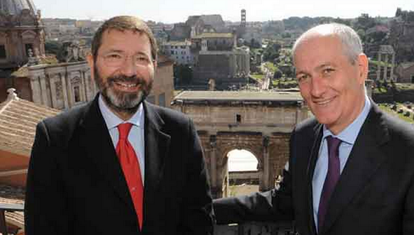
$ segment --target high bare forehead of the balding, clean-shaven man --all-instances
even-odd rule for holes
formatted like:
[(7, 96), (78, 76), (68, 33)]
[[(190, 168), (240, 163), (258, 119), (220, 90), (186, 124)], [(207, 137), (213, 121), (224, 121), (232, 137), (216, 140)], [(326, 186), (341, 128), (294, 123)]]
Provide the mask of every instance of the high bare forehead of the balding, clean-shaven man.
[(296, 68), (314, 67), (346, 59), (342, 43), (333, 35), (311, 34), (297, 45), (293, 61)]

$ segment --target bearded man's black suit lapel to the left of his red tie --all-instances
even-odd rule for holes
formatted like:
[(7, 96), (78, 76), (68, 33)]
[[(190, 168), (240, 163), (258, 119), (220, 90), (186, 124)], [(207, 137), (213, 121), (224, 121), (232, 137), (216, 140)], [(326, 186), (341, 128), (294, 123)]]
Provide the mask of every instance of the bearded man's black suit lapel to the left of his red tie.
[(81, 121), (81, 127), (85, 130), (85, 134), (81, 135), (81, 138), (84, 138), (81, 143), (85, 143), (87, 155), (97, 166), (96, 169), (102, 178), (108, 181), (121, 201), (124, 201), (131, 209), (130, 212), (135, 214), (124, 172), (110, 139), (108, 127), (99, 110), (98, 96), (88, 105), (88, 110)]

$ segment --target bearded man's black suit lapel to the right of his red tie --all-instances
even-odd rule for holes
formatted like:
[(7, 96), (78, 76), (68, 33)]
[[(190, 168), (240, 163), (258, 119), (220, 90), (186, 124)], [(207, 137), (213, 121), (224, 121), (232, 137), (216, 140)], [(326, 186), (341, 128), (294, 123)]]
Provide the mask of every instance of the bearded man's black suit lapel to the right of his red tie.
[[(144, 102), (145, 112), (145, 183), (144, 183), (144, 221), (150, 212), (151, 201), (164, 174), (164, 161), (170, 148), (170, 136), (162, 132), (164, 121), (154, 107)], [(145, 222), (144, 222), (145, 225)]]

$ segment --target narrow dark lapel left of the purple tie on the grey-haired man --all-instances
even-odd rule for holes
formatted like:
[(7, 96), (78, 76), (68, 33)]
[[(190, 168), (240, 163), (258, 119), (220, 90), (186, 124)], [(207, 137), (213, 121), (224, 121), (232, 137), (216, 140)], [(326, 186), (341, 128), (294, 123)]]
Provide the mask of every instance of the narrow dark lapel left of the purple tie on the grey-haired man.
[(308, 182), (308, 225), (309, 231), (312, 234), (316, 234), (315, 228), (315, 221), (313, 218), (313, 190), (312, 190), (312, 181), (313, 181), (313, 173), (315, 172), (315, 165), (319, 155), (319, 147), (321, 145), (321, 138), (322, 138), (322, 125), (317, 124), (313, 128), (313, 146), (311, 150), (311, 157), (308, 159), (308, 169), (307, 169), (307, 182)]

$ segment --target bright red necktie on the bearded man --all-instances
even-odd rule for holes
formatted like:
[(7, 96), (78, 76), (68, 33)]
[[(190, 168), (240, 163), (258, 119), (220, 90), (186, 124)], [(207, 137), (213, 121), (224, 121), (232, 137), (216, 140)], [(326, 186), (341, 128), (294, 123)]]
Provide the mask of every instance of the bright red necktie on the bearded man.
[(143, 221), (142, 217), (144, 216), (142, 212), (144, 186), (142, 185), (141, 170), (139, 169), (137, 155), (128, 141), (128, 133), (130, 132), (131, 127), (131, 123), (122, 123), (118, 125), (119, 141), (117, 144), (117, 155), (126, 178), (126, 183), (128, 183), (135, 212), (137, 213), (139, 229), (141, 229)]

